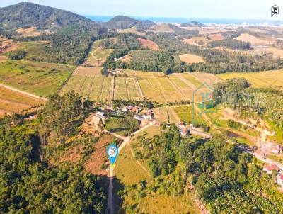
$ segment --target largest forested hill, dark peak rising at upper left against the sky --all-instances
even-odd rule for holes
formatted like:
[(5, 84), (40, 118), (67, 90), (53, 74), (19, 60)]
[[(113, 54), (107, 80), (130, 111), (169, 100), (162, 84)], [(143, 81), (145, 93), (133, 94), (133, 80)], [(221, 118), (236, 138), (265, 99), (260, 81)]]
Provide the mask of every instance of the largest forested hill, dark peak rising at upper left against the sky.
[(71, 26), (100, 28), (97, 23), (88, 18), (50, 6), (25, 2), (0, 8), (0, 28), (9, 30), (30, 26), (45, 30), (57, 30)]

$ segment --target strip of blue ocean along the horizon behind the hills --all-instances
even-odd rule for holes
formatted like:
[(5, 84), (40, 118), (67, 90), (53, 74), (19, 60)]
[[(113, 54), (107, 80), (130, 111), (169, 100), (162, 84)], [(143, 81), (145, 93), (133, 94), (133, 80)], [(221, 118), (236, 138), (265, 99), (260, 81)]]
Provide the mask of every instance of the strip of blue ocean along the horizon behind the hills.
[[(109, 21), (114, 16), (86, 16), (92, 21), (105, 22)], [(131, 16), (132, 18), (138, 20), (150, 20), (156, 23), (186, 23), (190, 21), (198, 21), (200, 23), (216, 23), (216, 24), (234, 24), (241, 25), (246, 23), (248, 25), (261, 25), (263, 23), (269, 23), (272, 25), (283, 24), (283, 21), (279, 20), (264, 20), (264, 19), (229, 19), (229, 18), (171, 18), (171, 17), (141, 17), (141, 16)]]

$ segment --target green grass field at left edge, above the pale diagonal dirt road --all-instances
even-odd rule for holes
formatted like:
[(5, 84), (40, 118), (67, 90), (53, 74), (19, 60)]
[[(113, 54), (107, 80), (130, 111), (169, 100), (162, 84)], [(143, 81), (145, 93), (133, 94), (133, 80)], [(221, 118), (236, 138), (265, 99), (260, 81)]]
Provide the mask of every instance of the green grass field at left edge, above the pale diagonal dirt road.
[(47, 62), (7, 60), (0, 63), (0, 83), (38, 96), (49, 96), (62, 86), (74, 68)]

